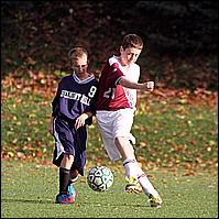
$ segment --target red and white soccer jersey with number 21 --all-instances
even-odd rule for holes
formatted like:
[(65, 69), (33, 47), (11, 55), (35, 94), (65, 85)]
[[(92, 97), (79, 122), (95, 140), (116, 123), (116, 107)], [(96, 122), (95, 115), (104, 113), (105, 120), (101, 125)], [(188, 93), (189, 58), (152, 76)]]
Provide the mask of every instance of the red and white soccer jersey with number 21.
[(119, 109), (135, 109), (136, 90), (119, 85), (121, 76), (134, 83), (139, 81), (140, 66), (131, 64), (122, 67), (117, 56), (107, 61), (99, 79), (96, 110), (116, 111)]

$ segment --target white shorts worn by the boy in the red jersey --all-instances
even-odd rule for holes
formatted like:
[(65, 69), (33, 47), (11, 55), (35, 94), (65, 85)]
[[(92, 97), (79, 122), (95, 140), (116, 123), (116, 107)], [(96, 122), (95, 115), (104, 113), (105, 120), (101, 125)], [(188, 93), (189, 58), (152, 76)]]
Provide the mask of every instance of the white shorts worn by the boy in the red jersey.
[(133, 117), (133, 109), (120, 109), (117, 111), (98, 110), (96, 113), (105, 149), (113, 162), (122, 157), (114, 144), (116, 138), (127, 136), (132, 144), (135, 144), (135, 138), (130, 133)]

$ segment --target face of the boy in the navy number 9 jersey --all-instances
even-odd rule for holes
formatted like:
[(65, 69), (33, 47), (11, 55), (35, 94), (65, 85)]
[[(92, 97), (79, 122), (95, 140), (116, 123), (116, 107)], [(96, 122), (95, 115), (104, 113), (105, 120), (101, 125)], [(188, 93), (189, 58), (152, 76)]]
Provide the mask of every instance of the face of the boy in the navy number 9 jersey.
[(73, 59), (72, 68), (76, 74), (87, 73), (88, 62), (87, 55)]

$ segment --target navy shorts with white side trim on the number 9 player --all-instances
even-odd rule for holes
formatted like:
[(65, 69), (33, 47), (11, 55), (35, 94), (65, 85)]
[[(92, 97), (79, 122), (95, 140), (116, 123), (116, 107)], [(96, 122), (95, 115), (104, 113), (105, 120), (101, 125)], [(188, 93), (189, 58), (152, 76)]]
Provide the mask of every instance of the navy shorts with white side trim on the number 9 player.
[(86, 125), (75, 129), (75, 123), (61, 118), (55, 118), (53, 123), (53, 135), (55, 138), (55, 150), (53, 164), (61, 166), (64, 154), (74, 155), (72, 169), (77, 169), (84, 176), (86, 164)]

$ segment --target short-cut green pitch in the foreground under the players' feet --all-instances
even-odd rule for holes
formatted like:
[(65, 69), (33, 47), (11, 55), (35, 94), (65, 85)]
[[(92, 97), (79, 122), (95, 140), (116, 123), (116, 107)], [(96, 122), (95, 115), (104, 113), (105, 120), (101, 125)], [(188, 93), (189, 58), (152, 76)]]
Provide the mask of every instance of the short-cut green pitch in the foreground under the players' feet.
[[(95, 163), (88, 163), (89, 169)], [(163, 207), (149, 207), (144, 194), (125, 194), (123, 173), (109, 166), (112, 187), (92, 191), (86, 177), (76, 183), (78, 196), (70, 206), (54, 204), (58, 189), (58, 169), (35, 162), (7, 161), (1, 165), (2, 218), (216, 218), (218, 178), (200, 172), (197, 176), (173, 174), (168, 169), (149, 172), (163, 198)]]

